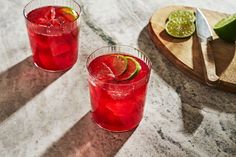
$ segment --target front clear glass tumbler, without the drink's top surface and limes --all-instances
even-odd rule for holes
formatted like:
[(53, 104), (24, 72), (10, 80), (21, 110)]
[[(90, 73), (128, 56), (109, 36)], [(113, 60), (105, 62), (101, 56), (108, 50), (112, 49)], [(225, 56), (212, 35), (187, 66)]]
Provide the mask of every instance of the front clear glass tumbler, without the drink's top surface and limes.
[[(91, 72), (94, 71), (91, 69), (92, 62), (96, 62), (100, 66), (103, 62), (100, 62), (99, 59), (104, 55), (105, 57), (108, 55), (124, 55), (135, 58), (142, 67), (135, 77), (139, 77), (138, 75), (142, 75), (142, 77), (137, 81), (134, 81), (135, 79), (127, 80), (125, 83), (113, 83), (98, 79)], [(97, 68), (98, 66), (94, 67)], [(87, 70), (89, 73), (91, 112), (95, 123), (113, 132), (129, 131), (138, 126), (143, 117), (151, 72), (149, 58), (142, 51), (130, 46), (107, 46), (97, 49), (88, 57)]]

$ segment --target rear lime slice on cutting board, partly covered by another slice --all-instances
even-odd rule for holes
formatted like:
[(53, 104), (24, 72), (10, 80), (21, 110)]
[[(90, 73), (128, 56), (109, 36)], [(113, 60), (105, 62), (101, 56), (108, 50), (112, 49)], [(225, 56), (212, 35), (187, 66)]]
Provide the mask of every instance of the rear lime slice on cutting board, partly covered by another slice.
[(175, 10), (172, 11), (168, 17), (171, 20), (179, 20), (179, 21), (191, 21), (194, 22), (196, 17), (194, 12), (191, 10)]

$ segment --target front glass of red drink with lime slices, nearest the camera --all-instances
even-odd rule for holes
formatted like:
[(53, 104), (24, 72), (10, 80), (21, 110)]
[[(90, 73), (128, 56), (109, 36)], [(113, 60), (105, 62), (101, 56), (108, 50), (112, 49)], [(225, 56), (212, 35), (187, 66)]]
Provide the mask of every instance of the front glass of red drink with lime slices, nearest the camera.
[(106, 46), (87, 59), (92, 118), (114, 132), (134, 129), (143, 117), (150, 59), (129, 46)]

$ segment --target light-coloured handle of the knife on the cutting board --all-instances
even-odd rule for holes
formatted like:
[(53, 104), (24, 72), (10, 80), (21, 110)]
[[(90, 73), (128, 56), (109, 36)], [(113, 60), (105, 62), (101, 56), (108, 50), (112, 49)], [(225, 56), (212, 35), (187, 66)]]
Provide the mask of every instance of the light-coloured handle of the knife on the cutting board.
[(206, 83), (209, 85), (214, 85), (218, 82), (219, 76), (216, 75), (216, 65), (211, 45), (209, 42), (201, 42), (201, 48), (205, 66), (203, 69)]

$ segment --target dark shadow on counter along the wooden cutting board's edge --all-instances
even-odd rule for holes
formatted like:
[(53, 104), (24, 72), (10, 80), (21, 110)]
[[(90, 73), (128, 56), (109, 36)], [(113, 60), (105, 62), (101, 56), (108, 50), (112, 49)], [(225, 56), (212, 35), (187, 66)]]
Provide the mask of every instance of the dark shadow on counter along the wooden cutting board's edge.
[(184, 129), (187, 133), (193, 133), (201, 124), (203, 107), (225, 113), (236, 113), (234, 105), (236, 97), (233, 94), (200, 84), (183, 75), (177, 68), (173, 68), (173, 64), (159, 53), (153, 44), (148, 34), (148, 26), (140, 32), (138, 46), (151, 59), (155, 73), (180, 95)]

